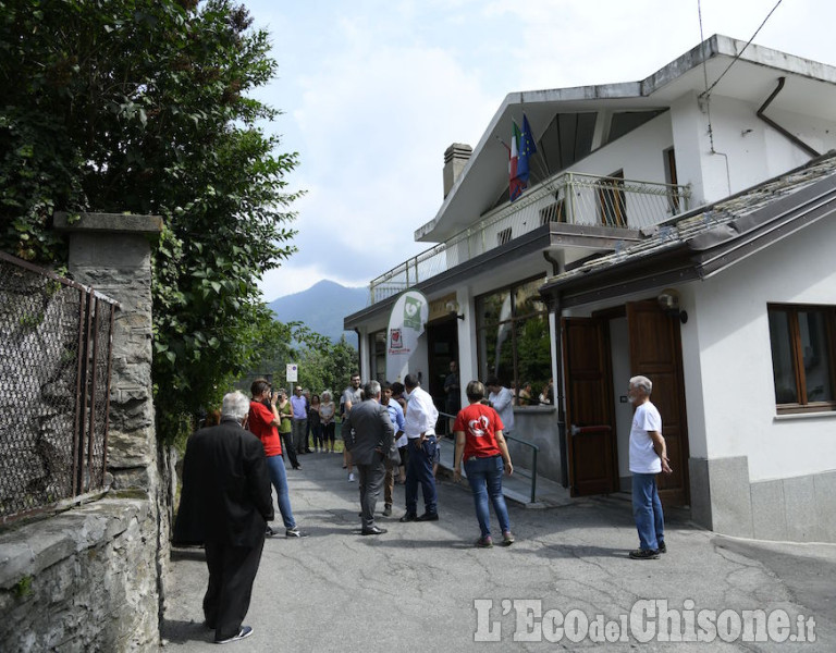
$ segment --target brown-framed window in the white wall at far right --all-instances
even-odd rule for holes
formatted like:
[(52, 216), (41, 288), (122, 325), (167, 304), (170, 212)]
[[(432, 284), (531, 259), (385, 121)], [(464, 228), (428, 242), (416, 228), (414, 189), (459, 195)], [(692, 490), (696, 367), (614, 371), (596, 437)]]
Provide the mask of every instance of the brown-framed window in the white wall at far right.
[(771, 304), (769, 318), (778, 412), (836, 410), (836, 309)]

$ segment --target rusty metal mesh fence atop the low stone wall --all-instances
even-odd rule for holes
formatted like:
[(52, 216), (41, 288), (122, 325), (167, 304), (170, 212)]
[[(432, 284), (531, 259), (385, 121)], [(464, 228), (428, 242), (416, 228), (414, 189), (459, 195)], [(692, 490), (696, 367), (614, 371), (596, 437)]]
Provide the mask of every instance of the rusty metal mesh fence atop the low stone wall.
[(0, 522), (103, 488), (116, 308), (0, 252)]

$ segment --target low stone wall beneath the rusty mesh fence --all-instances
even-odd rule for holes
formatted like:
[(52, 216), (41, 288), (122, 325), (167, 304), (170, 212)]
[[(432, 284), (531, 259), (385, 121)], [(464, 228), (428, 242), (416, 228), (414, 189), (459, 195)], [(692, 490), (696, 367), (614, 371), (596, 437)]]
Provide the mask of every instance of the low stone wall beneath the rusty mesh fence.
[(102, 498), (0, 534), (4, 653), (159, 643), (157, 510)]

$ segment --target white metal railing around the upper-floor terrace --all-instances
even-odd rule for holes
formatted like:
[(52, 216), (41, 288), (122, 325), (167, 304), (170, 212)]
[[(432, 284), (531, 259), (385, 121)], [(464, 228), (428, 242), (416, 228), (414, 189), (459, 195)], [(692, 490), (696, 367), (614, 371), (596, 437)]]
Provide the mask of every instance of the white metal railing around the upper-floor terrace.
[(550, 222), (638, 230), (688, 209), (690, 188), (576, 172), (558, 174), (476, 224), (373, 279), (369, 306)]

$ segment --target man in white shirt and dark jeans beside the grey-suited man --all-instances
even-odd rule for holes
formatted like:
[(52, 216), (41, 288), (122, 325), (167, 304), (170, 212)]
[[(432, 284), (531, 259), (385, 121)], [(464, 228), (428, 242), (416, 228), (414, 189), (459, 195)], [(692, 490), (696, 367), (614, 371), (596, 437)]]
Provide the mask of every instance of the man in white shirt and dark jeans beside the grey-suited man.
[[(415, 374), (404, 379), (407, 404), (404, 432), (408, 440), (406, 460), (406, 514), (401, 521), (438, 521), (438, 496), (432, 476), (435, 456), (435, 422), (439, 410), (430, 394), (421, 390)], [(423, 515), (418, 516), (418, 483), (423, 491)]]

